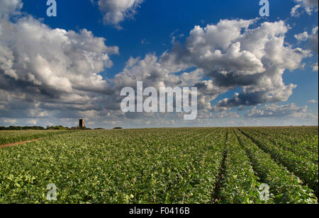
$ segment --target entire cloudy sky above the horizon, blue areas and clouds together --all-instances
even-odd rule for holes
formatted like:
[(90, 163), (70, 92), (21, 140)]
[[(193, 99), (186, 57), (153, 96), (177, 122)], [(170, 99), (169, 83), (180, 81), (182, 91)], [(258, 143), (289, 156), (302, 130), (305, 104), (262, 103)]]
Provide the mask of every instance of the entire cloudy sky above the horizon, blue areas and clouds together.
[[(0, 0), (0, 126), (318, 125), (318, 0)], [(197, 87), (198, 117), (121, 88)]]

